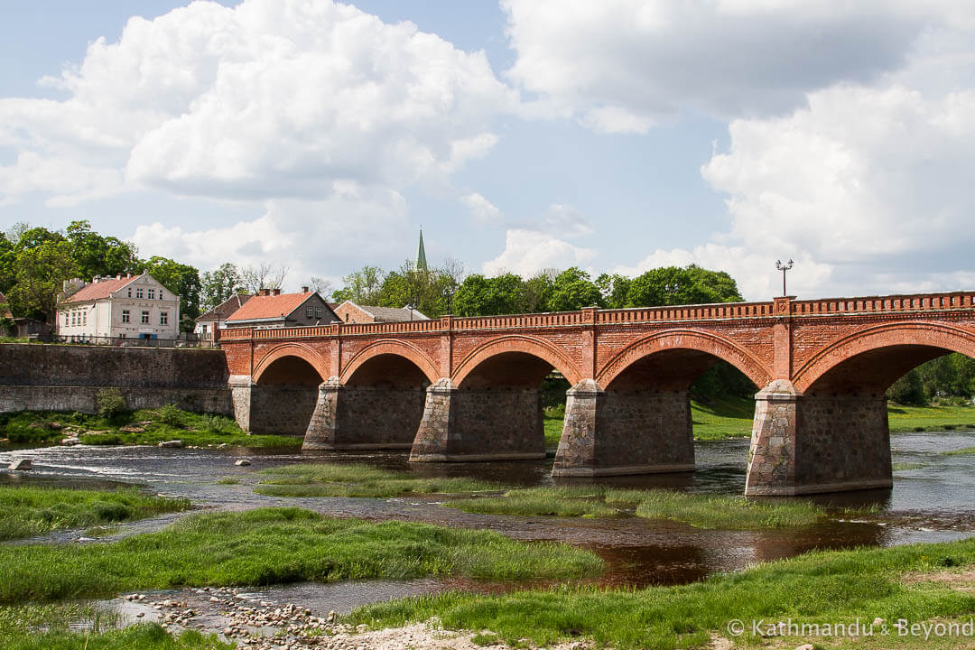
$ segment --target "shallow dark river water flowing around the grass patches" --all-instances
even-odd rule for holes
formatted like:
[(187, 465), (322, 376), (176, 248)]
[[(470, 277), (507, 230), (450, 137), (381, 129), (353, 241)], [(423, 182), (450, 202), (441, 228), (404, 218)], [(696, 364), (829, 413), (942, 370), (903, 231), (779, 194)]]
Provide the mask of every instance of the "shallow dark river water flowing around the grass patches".
[[(894, 472), (892, 490), (872, 490), (814, 497), (833, 507), (877, 505), (870, 521), (840, 520), (801, 529), (702, 530), (680, 523), (623, 519), (484, 516), (445, 508), (446, 498), (275, 498), (254, 494), (257, 472), (295, 462), (365, 462), (422, 476), (476, 476), (521, 485), (552, 484), (551, 459), (503, 463), (410, 464), (406, 452), (297, 453), (293, 450), (160, 449), (157, 447), (46, 447), (0, 453), (0, 467), (20, 457), (33, 460), (30, 472), (0, 472), (0, 482), (49, 482), (54, 485), (137, 483), (169, 496), (186, 496), (205, 509), (241, 510), (291, 505), (332, 516), (401, 518), (451, 526), (489, 528), (524, 540), (559, 540), (594, 550), (607, 562), (604, 585), (681, 584), (712, 573), (800, 554), (812, 549), (891, 546), (946, 541), (975, 531), (975, 456), (941, 452), (975, 446), (975, 432), (912, 433), (891, 436), (897, 464), (922, 467)], [(681, 475), (599, 478), (601, 484), (668, 487), (693, 492), (740, 494), (744, 490), (748, 440), (699, 442), (697, 471)], [(252, 465), (236, 467), (247, 458)], [(236, 484), (218, 483), (235, 478)], [(582, 479), (587, 480), (587, 479)], [(592, 482), (593, 479), (588, 479)], [(573, 479), (579, 482), (580, 479)], [(559, 479), (559, 483), (569, 482)], [(120, 534), (157, 530), (182, 515), (160, 516), (125, 524)], [(105, 538), (102, 538), (105, 539)], [(111, 539), (111, 538), (107, 538)], [(55, 533), (45, 541), (98, 543), (80, 531)], [(36, 543), (39, 540), (29, 540)], [(256, 600), (294, 602), (316, 612), (349, 611), (355, 606), (409, 594), (445, 589), (496, 592), (511, 585), (463, 580), (374, 581), (331, 585), (299, 584), (260, 590)], [(184, 594), (185, 595), (185, 594)], [(141, 611), (137, 603), (116, 601), (124, 615)], [(144, 610), (144, 607), (143, 607)], [(145, 613), (145, 611), (143, 611)]]

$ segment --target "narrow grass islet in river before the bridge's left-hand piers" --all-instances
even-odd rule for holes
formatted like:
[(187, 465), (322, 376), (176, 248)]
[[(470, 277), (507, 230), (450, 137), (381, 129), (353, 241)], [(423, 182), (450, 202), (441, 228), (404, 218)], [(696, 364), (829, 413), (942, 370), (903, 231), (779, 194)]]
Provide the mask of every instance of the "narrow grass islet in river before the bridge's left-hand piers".
[(498, 490), (477, 478), (422, 478), (369, 465), (286, 465), (263, 470), (258, 494), (293, 497), (395, 497), (405, 494), (455, 494)]

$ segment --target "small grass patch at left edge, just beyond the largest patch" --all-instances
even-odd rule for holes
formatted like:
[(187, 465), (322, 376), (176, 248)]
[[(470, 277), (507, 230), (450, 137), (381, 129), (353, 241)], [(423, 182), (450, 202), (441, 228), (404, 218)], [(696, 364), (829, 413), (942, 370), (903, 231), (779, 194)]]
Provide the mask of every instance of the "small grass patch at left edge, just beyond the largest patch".
[(61, 528), (141, 519), (189, 508), (189, 499), (153, 496), (134, 487), (105, 491), (2, 485), (0, 540), (33, 537)]

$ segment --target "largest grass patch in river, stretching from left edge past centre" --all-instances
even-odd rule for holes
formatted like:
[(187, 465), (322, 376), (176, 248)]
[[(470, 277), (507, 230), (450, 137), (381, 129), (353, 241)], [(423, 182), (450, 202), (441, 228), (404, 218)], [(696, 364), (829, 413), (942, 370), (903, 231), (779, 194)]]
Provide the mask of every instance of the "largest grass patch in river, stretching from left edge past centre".
[(304, 580), (567, 579), (602, 568), (596, 554), (564, 544), (275, 508), (186, 516), (166, 530), (108, 544), (0, 546), (0, 603)]

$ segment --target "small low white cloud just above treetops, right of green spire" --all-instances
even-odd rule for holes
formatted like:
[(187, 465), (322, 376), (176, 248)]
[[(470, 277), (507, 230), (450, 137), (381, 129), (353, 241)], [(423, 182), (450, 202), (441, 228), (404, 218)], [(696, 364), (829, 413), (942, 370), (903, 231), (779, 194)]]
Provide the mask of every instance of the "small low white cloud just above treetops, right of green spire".
[(526, 278), (543, 269), (580, 266), (595, 254), (595, 250), (572, 246), (546, 233), (511, 229), (505, 236), (504, 250), (485, 262), (482, 270), (487, 275), (510, 272)]

